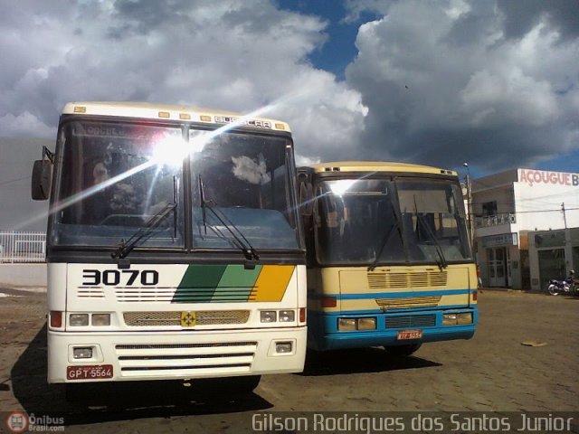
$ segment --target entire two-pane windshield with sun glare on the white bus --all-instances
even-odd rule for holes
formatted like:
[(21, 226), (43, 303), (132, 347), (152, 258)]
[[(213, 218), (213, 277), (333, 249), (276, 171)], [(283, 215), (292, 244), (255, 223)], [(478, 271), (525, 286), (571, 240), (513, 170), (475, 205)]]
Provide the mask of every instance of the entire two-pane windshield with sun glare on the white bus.
[[(115, 248), (137, 233), (135, 249), (185, 249), (191, 233), (194, 249), (236, 250), (233, 226), (255, 249), (298, 249), (289, 138), (183, 131), (132, 122), (63, 124), (49, 242)], [(200, 180), (213, 213), (204, 212)]]

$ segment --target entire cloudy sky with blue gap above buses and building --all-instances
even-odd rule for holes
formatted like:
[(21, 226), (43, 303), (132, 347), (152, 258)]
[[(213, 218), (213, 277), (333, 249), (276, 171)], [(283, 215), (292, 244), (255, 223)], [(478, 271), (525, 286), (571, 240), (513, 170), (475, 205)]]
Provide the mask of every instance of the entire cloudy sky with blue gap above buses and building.
[(69, 100), (272, 105), (301, 162), (579, 172), (577, 0), (0, 4), (0, 137)]

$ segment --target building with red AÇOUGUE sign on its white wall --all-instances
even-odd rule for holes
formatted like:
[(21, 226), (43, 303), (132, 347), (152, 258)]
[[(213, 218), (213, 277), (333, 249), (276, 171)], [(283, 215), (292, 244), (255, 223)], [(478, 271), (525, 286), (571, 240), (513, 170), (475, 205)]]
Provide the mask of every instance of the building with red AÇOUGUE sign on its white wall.
[(579, 246), (571, 230), (579, 228), (579, 174), (519, 168), (475, 179), (470, 216), (485, 287), (539, 290), (579, 269), (571, 247), (575, 238)]

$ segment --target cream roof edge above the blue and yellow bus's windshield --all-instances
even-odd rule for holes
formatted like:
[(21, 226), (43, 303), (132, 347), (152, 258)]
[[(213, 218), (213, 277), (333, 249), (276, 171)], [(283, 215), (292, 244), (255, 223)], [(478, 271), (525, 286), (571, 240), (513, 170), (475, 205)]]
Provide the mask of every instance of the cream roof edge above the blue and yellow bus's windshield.
[(334, 161), (308, 165), (308, 167), (312, 168), (316, 174), (328, 172), (401, 172), (458, 176), (457, 172), (449, 169), (391, 161)]

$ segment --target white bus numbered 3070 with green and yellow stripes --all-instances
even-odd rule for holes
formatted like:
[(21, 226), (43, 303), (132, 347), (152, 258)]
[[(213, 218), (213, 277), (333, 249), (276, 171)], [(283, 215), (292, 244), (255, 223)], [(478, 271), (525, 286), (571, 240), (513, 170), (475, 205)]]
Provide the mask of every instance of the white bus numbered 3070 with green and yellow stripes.
[[(73, 102), (34, 162), (50, 198), (48, 382), (303, 370), (305, 249), (285, 122)], [(78, 385), (77, 385), (78, 384)]]

